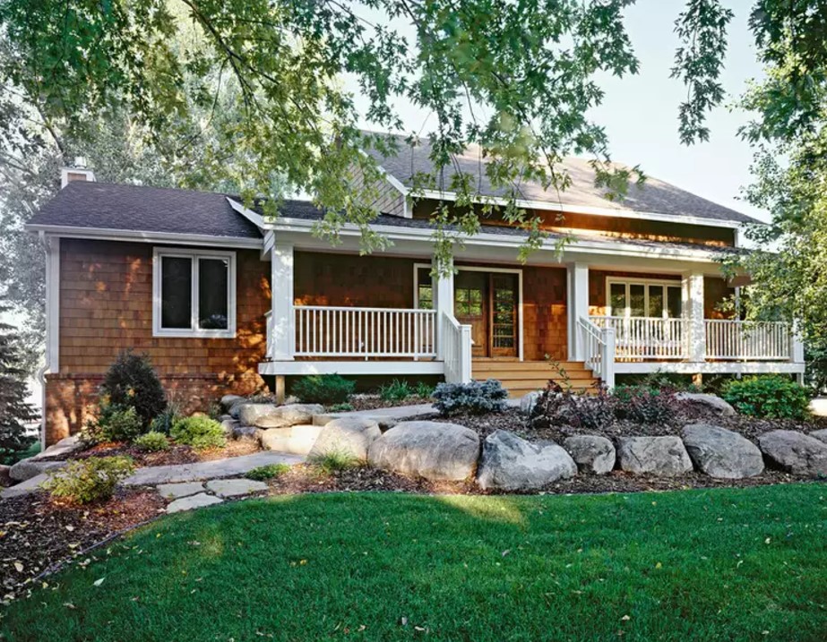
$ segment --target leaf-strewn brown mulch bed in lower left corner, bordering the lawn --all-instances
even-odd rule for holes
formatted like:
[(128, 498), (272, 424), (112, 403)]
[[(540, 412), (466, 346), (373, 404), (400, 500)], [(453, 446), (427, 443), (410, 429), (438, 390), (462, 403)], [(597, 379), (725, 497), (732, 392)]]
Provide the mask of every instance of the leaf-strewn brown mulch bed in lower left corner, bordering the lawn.
[(126, 489), (86, 506), (52, 501), (45, 492), (0, 501), (0, 601), (93, 544), (157, 517), (165, 506), (157, 492)]

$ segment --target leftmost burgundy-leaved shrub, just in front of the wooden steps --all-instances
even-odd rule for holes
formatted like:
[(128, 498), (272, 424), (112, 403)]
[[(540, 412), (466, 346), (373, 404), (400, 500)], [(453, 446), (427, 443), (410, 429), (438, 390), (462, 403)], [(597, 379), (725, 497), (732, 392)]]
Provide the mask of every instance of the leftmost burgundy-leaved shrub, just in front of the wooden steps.
[(595, 395), (581, 395), (562, 389), (554, 381), (549, 381), (530, 415), (530, 425), (534, 428), (570, 425), (601, 430), (614, 423), (614, 399), (605, 388), (600, 388)]

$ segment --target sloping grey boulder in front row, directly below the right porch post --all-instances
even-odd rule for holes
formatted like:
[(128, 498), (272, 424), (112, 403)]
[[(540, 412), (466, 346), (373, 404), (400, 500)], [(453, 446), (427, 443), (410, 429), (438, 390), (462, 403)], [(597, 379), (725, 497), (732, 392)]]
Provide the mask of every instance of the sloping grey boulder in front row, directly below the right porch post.
[(711, 477), (741, 479), (763, 472), (761, 450), (737, 432), (711, 424), (690, 424), (682, 435), (695, 467)]

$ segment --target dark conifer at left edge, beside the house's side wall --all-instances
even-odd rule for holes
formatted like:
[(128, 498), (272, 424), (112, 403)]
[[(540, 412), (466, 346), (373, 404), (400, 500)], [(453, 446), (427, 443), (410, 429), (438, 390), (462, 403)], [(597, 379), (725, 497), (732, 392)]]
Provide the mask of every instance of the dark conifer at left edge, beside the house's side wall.
[[(8, 308), (0, 304), (0, 318)], [(29, 448), (25, 424), (38, 418), (29, 396), (20, 337), (9, 323), (0, 321), (0, 463)]]

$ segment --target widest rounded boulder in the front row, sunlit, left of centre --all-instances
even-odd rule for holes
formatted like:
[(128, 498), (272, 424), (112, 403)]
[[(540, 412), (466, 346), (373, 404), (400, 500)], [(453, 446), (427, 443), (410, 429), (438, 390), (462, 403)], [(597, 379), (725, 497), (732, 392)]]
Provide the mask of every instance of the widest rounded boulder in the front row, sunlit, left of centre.
[(476, 432), (458, 424), (410, 421), (393, 426), (368, 449), (370, 465), (430, 480), (460, 481), (474, 474)]

